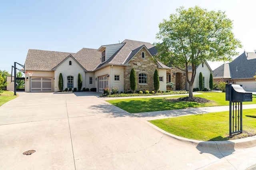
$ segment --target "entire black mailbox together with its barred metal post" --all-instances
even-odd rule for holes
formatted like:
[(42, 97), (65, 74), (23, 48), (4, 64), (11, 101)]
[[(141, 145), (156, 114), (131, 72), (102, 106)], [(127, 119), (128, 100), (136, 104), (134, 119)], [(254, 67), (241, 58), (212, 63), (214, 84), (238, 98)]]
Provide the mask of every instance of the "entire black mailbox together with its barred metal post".
[(246, 92), (242, 85), (226, 84), (226, 101), (229, 101), (229, 136), (232, 137), (234, 133), (243, 133), (242, 103), (252, 102), (252, 93)]

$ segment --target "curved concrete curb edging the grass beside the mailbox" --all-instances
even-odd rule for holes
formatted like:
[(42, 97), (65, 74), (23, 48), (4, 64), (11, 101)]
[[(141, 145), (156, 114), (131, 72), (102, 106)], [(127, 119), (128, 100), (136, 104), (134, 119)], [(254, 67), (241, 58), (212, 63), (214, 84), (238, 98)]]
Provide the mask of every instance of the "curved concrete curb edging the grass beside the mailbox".
[(173, 135), (171, 133), (168, 133), (160, 129), (156, 125), (153, 125), (149, 121), (146, 121), (146, 122), (148, 123), (148, 125), (150, 125), (154, 129), (164, 133), (165, 135), (168, 135), (173, 139), (176, 139), (184, 143), (192, 144), (192, 145), (197, 145), (200, 147), (217, 147), (219, 150), (226, 150), (226, 149), (245, 149), (245, 148), (256, 146), (256, 135), (252, 137), (246, 137), (242, 139), (234, 139), (234, 140), (228, 140), (228, 141), (198, 141), (194, 139), (187, 139), (184, 137)]

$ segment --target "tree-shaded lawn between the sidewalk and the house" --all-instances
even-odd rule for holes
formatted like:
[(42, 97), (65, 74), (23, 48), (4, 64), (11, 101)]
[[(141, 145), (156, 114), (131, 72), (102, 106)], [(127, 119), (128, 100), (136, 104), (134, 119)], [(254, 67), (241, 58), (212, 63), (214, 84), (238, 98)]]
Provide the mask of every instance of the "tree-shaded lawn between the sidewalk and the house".
[[(226, 93), (218, 92), (202, 92), (202, 94), (194, 95), (201, 98), (212, 100), (210, 103), (199, 104), (196, 102), (175, 102), (174, 98), (186, 97), (184, 96), (172, 96), (172, 97), (160, 97), (160, 98), (132, 98), (132, 99), (118, 99), (107, 100), (110, 104), (120, 107), (129, 113), (140, 113), (149, 111), (161, 111), (172, 109), (185, 109), (189, 107), (208, 107), (208, 106), (228, 106), (229, 101), (226, 101)], [(252, 102), (243, 102), (243, 104), (256, 104), (256, 95), (252, 95)]]

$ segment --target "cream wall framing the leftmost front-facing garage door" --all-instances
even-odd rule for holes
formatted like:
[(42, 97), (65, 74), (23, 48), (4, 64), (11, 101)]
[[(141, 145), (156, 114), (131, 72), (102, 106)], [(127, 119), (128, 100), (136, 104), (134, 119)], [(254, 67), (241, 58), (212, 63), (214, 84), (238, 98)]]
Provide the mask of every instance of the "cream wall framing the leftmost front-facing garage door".
[[(31, 71), (31, 70), (26, 70), (26, 72), (30, 72), (32, 75), (30, 77), (29, 73), (25, 74), (25, 92), (30, 92), (30, 80), (31, 80), (31, 78), (49, 77), (49, 78), (52, 78), (52, 80), (54, 80), (54, 71)], [(28, 77), (28, 81), (26, 80), (27, 77)], [(54, 82), (52, 83), (52, 89), (54, 89)]]

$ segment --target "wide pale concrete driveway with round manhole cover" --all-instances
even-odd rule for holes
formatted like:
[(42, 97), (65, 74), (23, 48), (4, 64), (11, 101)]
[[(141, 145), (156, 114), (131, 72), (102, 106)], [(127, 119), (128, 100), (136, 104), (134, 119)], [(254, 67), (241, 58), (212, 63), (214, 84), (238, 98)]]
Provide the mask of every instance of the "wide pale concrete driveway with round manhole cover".
[(256, 147), (179, 141), (95, 92), (18, 94), (0, 107), (0, 169), (233, 170), (256, 162)]

